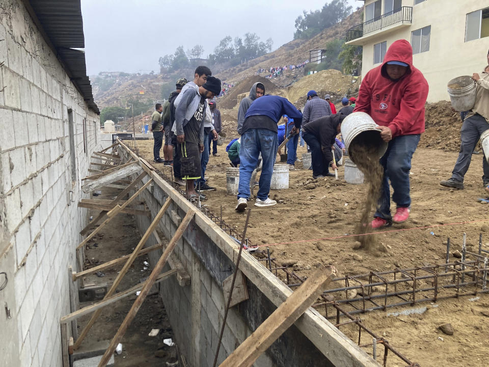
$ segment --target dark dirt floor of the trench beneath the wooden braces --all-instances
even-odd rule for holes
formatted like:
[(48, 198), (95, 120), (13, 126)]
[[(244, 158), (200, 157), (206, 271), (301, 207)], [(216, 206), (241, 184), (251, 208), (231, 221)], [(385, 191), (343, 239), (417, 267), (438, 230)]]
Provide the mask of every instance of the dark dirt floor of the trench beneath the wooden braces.
[[(104, 189), (102, 195), (97, 199), (112, 199), (118, 194), (114, 189)], [(92, 211), (94, 217), (97, 211)], [(110, 225), (105, 226), (93, 241), (90, 241), (85, 250), (85, 269), (106, 263), (106, 261), (120, 256), (130, 254), (141, 239), (141, 234), (135, 226), (134, 216), (119, 214), (112, 220)], [(122, 282), (118, 286), (118, 291), (123, 291), (129, 287), (139, 284), (140, 279), (146, 278), (151, 273), (151, 267), (145, 270), (144, 261), (148, 261), (147, 256), (140, 256), (135, 259), (129, 268)], [(122, 265), (103, 271), (104, 276), (98, 277), (95, 274), (86, 277), (86, 283), (100, 284), (108, 283), (108, 287), (116, 279)], [(165, 281), (165, 280), (164, 280)], [(150, 293), (151, 294), (151, 293)], [(96, 324), (92, 327), (82, 347), (96, 345), (101, 340), (111, 340), (118, 328), (124, 321), (127, 312), (134, 303), (136, 295), (128, 296), (116, 303), (103, 309)], [(88, 306), (93, 302), (80, 303), (80, 308)], [(78, 319), (78, 333), (88, 323), (92, 314), (88, 314)], [(157, 336), (148, 336), (151, 329), (160, 329)], [(166, 365), (166, 362), (175, 362), (176, 347), (168, 347), (163, 344), (163, 339), (174, 338), (172, 328), (168, 321), (160, 297), (157, 294), (146, 298), (137, 316), (130, 324), (124, 337), (122, 338), (122, 353), (115, 354), (115, 365), (119, 367), (133, 367), (142, 365)]]

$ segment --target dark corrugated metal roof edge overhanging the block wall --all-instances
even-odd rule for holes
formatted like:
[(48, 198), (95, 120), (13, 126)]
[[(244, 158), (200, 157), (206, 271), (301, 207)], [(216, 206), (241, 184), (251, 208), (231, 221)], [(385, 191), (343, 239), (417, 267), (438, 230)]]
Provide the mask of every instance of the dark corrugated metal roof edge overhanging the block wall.
[(71, 81), (83, 95), (88, 107), (100, 114), (87, 76), (85, 53), (73, 49), (85, 47), (80, 1), (29, 0), (29, 4), (51, 44), (56, 48), (58, 58), (64, 63)]

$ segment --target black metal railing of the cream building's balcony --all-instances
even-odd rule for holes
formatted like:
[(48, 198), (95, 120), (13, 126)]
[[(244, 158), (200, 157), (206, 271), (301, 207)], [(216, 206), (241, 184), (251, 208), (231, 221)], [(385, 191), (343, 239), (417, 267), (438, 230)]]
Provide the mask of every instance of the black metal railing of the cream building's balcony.
[(368, 33), (382, 30), (383, 28), (389, 27), (389, 25), (404, 21), (411, 22), (412, 20), (413, 8), (401, 7), (350, 28), (346, 31), (346, 42), (363, 37)]

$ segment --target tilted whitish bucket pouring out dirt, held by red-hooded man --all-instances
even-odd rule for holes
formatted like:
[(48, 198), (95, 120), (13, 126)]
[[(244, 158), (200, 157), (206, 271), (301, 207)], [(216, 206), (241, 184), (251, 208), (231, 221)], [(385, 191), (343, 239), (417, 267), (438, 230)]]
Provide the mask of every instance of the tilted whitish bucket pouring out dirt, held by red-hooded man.
[(377, 129), (377, 126), (365, 112), (354, 112), (345, 117), (341, 124), (341, 135), (351, 162), (355, 162), (351, 147), (357, 144), (374, 147), (378, 158), (384, 155), (387, 143), (382, 140), (381, 130)]

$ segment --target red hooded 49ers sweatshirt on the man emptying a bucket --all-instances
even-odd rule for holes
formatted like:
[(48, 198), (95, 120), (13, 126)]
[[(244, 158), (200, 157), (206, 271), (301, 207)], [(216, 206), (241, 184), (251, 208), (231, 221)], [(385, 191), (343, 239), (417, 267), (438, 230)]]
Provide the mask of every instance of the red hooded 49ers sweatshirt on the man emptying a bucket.
[[(397, 81), (386, 72), (388, 61), (409, 65)], [(389, 47), (381, 66), (364, 77), (354, 112), (366, 112), (382, 126), (392, 130), (392, 137), (424, 132), (424, 104), (428, 83), (421, 71), (413, 66), (413, 48), (406, 40), (397, 40)]]

